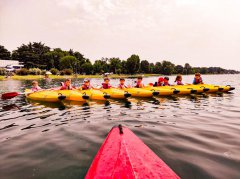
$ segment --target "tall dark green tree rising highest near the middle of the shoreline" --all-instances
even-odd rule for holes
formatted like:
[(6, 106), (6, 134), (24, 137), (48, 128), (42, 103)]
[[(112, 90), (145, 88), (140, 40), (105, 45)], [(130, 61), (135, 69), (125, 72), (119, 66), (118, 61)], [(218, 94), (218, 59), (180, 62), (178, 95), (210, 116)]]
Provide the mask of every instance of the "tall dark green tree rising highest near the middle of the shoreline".
[(132, 55), (127, 59), (126, 67), (129, 74), (134, 74), (139, 71), (140, 58), (138, 55)]

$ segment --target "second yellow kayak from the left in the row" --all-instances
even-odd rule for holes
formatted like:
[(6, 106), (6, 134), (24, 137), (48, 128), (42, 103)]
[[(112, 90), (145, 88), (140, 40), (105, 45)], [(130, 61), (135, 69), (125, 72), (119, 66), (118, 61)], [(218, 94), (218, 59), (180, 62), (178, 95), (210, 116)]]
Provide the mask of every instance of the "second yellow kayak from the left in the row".
[(86, 101), (89, 96), (81, 93), (79, 90), (55, 90), (58, 94), (66, 96), (69, 101)]

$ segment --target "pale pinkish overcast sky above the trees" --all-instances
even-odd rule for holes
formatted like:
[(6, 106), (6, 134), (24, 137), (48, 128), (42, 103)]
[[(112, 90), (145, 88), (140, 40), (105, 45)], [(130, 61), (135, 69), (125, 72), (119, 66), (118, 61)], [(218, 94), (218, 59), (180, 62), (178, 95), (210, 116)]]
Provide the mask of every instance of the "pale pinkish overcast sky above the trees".
[(240, 70), (240, 0), (0, 0), (0, 45)]

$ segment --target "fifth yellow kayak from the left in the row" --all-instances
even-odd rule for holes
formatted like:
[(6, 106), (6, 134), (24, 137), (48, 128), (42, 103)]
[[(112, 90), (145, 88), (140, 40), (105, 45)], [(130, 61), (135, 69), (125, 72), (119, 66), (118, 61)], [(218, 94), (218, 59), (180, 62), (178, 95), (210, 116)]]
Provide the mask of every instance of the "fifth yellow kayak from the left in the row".
[(159, 94), (158, 91), (151, 91), (143, 88), (125, 88), (122, 90), (130, 93), (131, 96), (133, 97), (142, 97), (142, 98), (149, 98)]

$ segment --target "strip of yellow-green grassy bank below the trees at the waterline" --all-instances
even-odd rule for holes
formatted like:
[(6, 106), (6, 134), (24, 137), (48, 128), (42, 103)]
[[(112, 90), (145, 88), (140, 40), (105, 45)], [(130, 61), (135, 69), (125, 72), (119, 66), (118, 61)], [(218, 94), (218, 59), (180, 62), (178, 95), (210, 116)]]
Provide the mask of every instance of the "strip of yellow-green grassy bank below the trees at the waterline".
[[(119, 78), (119, 77), (124, 77), (124, 78), (135, 78), (139, 75), (109, 75), (110, 78)], [(149, 77), (149, 76), (159, 76), (158, 74), (144, 74), (144, 77)], [(65, 79), (65, 78), (102, 78), (102, 75), (64, 75), (64, 76), (59, 76), (59, 75), (49, 75), (49, 78), (51, 79)], [(43, 79), (44, 75), (27, 75), (27, 76), (19, 76), (15, 75), (12, 76), (11, 78), (5, 78), (4, 76), (0, 76), (0, 80), (4, 79), (13, 79), (13, 80), (39, 80)]]

